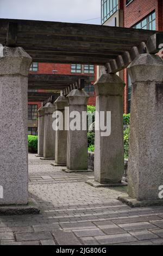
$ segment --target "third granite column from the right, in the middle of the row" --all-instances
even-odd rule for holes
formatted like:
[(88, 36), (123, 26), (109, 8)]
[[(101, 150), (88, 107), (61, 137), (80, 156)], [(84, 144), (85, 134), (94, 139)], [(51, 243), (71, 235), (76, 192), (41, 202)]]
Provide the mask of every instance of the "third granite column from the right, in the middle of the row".
[[(70, 114), (77, 111), (80, 114), (80, 130), (67, 132), (67, 168), (70, 170), (87, 169), (87, 130), (82, 130), (82, 112), (87, 111), (89, 96), (84, 90), (74, 89), (68, 95)], [(72, 118), (70, 118), (70, 123)]]

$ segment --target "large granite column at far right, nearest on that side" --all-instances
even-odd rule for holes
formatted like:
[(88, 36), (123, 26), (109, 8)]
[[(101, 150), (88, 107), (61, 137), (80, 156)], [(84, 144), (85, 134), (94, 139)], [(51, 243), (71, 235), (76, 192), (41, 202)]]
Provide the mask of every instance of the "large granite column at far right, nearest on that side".
[(141, 54), (130, 64), (133, 83), (128, 193), (137, 200), (159, 199), (163, 185), (163, 60)]

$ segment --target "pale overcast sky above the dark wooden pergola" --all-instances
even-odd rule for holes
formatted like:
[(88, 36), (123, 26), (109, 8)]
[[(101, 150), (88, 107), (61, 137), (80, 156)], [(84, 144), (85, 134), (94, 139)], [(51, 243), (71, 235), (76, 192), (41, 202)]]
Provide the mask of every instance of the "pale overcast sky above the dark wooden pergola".
[(101, 0), (0, 0), (0, 18), (101, 24), (100, 17)]

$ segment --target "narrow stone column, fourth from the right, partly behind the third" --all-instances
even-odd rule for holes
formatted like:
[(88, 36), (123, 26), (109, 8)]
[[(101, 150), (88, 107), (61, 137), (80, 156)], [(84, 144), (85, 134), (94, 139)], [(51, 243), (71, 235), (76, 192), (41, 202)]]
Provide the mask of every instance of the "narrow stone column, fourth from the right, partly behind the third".
[[(57, 111), (62, 113), (63, 130), (55, 131), (55, 163), (66, 165), (67, 159), (67, 130), (65, 130), (65, 107), (68, 106), (65, 96), (59, 96), (54, 102)], [(61, 121), (61, 120), (60, 120)]]

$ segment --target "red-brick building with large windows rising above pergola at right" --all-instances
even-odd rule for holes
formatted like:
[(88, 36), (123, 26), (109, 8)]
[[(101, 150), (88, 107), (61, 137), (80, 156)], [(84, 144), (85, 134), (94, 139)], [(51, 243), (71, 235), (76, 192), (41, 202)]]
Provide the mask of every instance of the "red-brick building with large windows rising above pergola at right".
[[(162, 0), (102, 0), (101, 22), (105, 26), (163, 30)], [(120, 72), (126, 83), (124, 113), (130, 113), (131, 81), (127, 70)]]

